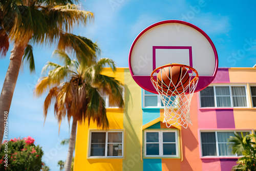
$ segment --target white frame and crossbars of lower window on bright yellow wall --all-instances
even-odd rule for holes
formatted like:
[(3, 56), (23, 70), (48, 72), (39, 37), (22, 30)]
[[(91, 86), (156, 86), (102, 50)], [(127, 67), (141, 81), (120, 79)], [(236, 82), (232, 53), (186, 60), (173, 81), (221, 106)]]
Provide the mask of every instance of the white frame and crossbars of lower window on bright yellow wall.
[[(92, 143), (92, 133), (105, 133), (105, 143)], [(121, 142), (108, 142), (109, 133), (122, 133)], [(91, 156), (92, 144), (105, 144), (105, 155), (104, 156)], [(108, 144), (122, 144), (121, 156), (108, 156)], [(90, 158), (122, 158), (123, 157), (123, 132), (122, 131), (91, 131), (90, 132), (90, 146), (89, 146), (89, 157)]]

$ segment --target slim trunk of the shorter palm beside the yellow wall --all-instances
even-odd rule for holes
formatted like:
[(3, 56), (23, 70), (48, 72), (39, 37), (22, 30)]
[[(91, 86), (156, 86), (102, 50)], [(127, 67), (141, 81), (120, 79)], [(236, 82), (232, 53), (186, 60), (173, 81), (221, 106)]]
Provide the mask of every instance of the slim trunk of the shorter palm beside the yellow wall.
[(71, 170), (71, 163), (72, 163), (73, 152), (74, 152), (75, 141), (76, 141), (76, 125), (77, 125), (77, 119), (73, 118), (71, 135), (69, 139), (69, 151), (68, 151), (68, 156), (65, 164), (65, 171)]

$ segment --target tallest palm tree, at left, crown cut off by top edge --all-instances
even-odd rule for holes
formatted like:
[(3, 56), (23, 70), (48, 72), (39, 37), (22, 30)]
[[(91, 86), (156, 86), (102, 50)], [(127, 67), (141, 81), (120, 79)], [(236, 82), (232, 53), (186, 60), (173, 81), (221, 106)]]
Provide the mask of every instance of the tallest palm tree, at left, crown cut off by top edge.
[[(57, 44), (72, 50), (79, 61), (96, 59), (97, 46), (85, 37), (71, 34), (78, 24), (86, 25), (93, 13), (80, 10), (78, 0), (0, 0), (0, 53), (5, 56), (13, 42), (10, 64), (0, 96), (0, 140), (4, 135), (4, 112), (9, 113), (22, 60), (35, 70), (32, 46)], [(24, 57), (23, 57), (24, 56)]]

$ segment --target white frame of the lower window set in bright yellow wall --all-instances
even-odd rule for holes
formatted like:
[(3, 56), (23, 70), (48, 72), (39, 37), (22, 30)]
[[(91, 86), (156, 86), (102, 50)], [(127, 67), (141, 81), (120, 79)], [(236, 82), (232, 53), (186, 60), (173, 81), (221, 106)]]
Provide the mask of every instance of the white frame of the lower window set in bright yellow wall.
[[(92, 133), (105, 133), (105, 156), (91, 156)], [(122, 133), (122, 156), (108, 156), (108, 144), (120, 144), (120, 142), (108, 142), (109, 133)], [(123, 158), (123, 131), (90, 131), (88, 158)]]

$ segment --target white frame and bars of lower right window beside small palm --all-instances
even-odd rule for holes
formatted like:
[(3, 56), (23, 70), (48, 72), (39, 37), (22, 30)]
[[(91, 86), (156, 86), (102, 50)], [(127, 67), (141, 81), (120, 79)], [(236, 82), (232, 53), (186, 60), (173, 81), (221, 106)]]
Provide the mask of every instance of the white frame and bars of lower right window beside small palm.
[[(224, 157), (224, 156), (221, 156), (220, 155), (220, 151), (219, 151), (219, 144), (227, 144), (227, 143), (231, 143), (231, 142), (219, 142), (218, 141), (218, 133), (221, 133), (221, 132), (230, 132), (230, 133), (250, 133), (250, 131), (215, 131), (215, 132), (208, 132), (208, 131), (202, 131), (200, 132), (200, 141), (201, 141), (201, 155), (202, 157), (208, 157), (208, 156), (203, 156), (203, 149), (202, 149), (202, 145), (203, 144), (215, 144), (216, 145), (216, 157)], [(201, 137), (201, 133), (215, 133), (215, 138), (216, 138), (216, 142), (202, 142), (202, 137)], [(229, 137), (228, 137), (229, 138)], [(238, 155), (231, 155), (231, 156), (225, 156), (225, 157), (238, 157)]]

